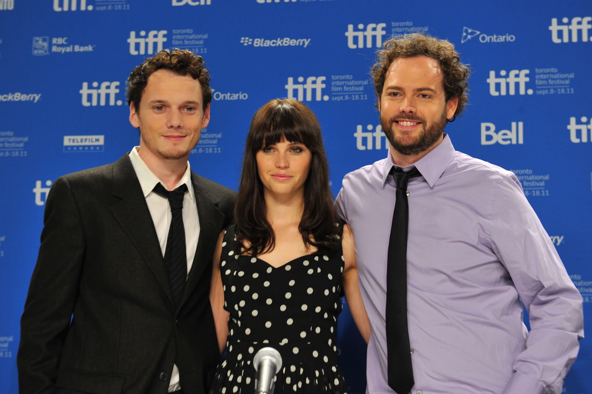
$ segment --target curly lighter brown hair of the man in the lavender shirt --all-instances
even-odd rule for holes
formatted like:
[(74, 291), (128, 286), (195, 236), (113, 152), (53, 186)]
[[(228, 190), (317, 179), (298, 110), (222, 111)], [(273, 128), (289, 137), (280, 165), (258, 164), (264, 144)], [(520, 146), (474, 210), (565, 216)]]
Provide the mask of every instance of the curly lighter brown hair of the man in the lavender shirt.
[[(370, 74), (374, 80), (377, 99), (382, 95), (384, 79), (392, 62), (400, 57), (427, 56), (440, 61), (444, 73), (444, 91), (446, 101), (458, 97), (458, 106), (454, 116), (460, 116), (465, 108), (468, 96), (467, 79), (471, 75), (468, 64), (461, 63), (461, 56), (454, 49), (454, 45), (447, 40), (430, 37), (422, 33), (398, 35), (384, 43), (377, 51), (378, 59), (372, 66)], [(378, 108), (378, 103), (376, 103)], [(454, 120), (455, 118), (452, 118)]]

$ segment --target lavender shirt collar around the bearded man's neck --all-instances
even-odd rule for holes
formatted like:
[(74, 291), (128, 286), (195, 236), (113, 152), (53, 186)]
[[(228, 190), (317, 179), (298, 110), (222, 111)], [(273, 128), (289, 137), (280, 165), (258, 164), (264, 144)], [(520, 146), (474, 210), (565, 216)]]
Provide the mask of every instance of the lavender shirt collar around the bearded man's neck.
[(436, 181), (442, 176), (444, 170), (446, 170), (448, 165), (451, 164), (455, 154), (454, 146), (452, 146), (450, 137), (446, 133), (444, 134), (444, 139), (436, 146), (436, 148), (433, 148), (427, 155), (414, 164), (404, 168), (394, 164), (394, 161), (392, 161), (391, 149), (388, 149), (387, 159), (382, 168), (382, 186), (384, 187), (392, 167), (403, 168), (403, 171), (409, 171), (411, 168), (416, 167), (417, 170), (422, 173), (423, 178), (427, 181), (430, 187), (434, 187)]

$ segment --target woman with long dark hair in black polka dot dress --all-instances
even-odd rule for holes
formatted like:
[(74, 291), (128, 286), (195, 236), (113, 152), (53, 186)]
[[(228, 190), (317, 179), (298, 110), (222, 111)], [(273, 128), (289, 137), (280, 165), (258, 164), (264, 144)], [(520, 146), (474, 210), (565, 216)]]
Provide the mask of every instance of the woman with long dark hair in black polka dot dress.
[(210, 299), (220, 351), (210, 394), (255, 391), (253, 356), (282, 356), (275, 393), (339, 393), (337, 316), (345, 292), (366, 342), (353, 237), (333, 210), (320, 126), (296, 100), (272, 100), (247, 136), (236, 226), (218, 239)]

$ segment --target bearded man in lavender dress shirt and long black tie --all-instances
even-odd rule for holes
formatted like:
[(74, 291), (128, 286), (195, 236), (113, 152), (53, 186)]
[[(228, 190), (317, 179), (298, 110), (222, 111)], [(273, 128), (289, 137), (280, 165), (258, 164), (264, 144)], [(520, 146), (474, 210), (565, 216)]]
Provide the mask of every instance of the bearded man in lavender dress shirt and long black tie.
[(516, 176), (443, 132), (468, 67), (410, 34), (384, 44), (372, 77), (388, 156), (346, 175), (335, 203), (372, 327), (368, 392), (560, 393), (582, 298)]

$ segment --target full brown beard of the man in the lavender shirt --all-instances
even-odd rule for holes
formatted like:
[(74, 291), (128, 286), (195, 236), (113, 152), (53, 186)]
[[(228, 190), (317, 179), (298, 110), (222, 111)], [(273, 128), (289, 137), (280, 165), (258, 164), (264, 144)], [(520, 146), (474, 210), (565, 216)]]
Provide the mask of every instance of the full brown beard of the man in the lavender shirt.
[[(396, 123), (396, 119), (408, 119), (409, 121), (422, 123), (423, 132), (420, 133), (417, 141), (411, 144), (404, 144), (400, 139), (395, 137), (395, 133), (392, 131), (392, 124)], [(382, 115), (380, 116), (380, 125), (382, 126), (382, 131), (387, 136), (388, 142), (391, 143), (391, 146), (395, 151), (407, 156), (420, 154), (435, 144), (435, 142), (442, 136), (447, 123), (446, 109), (444, 109), (442, 116), (440, 116), (439, 119), (430, 123), (427, 123), (425, 119), (420, 118), (417, 115), (407, 113), (398, 113), (391, 119), (385, 119)]]

